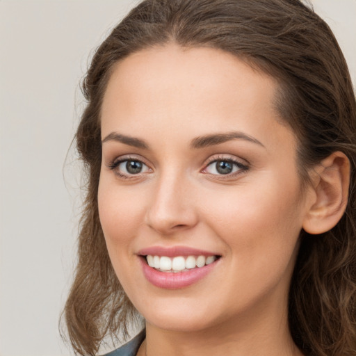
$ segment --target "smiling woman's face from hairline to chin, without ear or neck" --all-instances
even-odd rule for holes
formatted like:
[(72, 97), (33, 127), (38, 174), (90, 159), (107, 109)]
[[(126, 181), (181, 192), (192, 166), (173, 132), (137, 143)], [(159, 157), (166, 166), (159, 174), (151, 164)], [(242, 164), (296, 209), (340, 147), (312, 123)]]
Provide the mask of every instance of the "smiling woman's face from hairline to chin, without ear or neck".
[(147, 323), (193, 331), (286, 318), (307, 198), (276, 88), (217, 49), (170, 44), (115, 67), (99, 216)]

